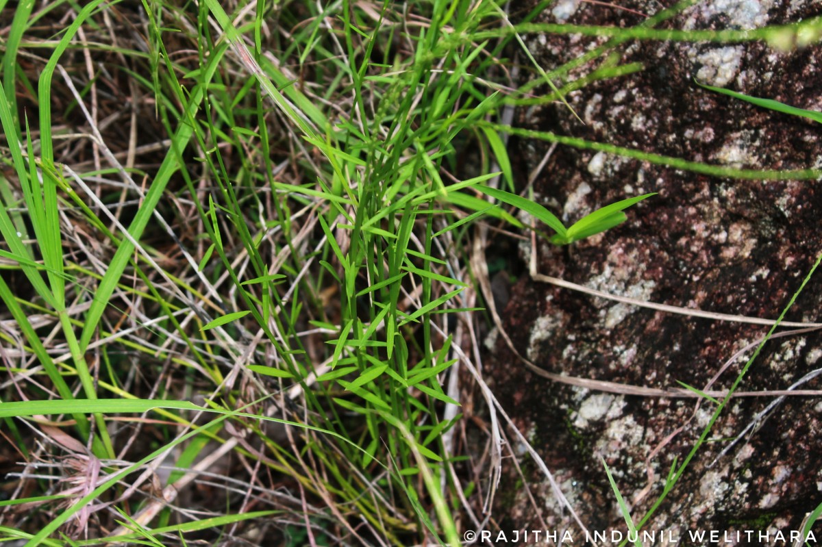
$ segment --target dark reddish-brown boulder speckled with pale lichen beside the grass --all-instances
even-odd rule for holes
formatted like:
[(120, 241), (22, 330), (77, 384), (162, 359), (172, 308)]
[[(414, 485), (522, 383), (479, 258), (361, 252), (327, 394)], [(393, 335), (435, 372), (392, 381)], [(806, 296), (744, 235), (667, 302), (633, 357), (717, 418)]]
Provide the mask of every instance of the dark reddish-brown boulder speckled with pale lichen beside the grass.
[[(625, 27), (640, 23), (640, 14), (652, 15), (661, 4), (672, 4), (619, 3), (560, 0), (540, 21)], [(659, 28), (752, 29), (800, 21), (820, 11), (822, 4), (811, 0), (707, 0)], [(526, 38), (546, 70), (604, 41), (559, 34)], [(622, 63), (641, 62), (644, 70), (568, 94), (584, 123), (557, 102), (520, 109), (519, 126), (734, 168), (822, 167), (819, 124), (695, 84), (698, 79), (822, 110), (819, 45), (785, 52), (760, 42), (634, 41), (617, 51)], [(589, 64), (570, 76), (583, 76), (592, 68)], [(548, 149), (524, 139), (512, 140), (510, 146), (522, 173), (538, 165)], [(541, 173), (535, 199), (566, 223), (624, 197), (658, 192), (631, 209), (626, 223), (580, 241), (570, 251), (539, 246), (541, 273), (604, 292), (775, 319), (822, 251), (822, 191), (815, 180), (708, 177), (565, 146), (556, 148)], [(522, 251), (526, 258), (529, 249), (523, 246)], [(787, 319), (820, 320), (820, 304), (822, 283), (811, 279)], [(677, 388), (677, 380), (704, 388), (727, 360), (768, 330), (606, 301), (535, 283), (525, 275), (511, 290), (503, 321), (518, 351), (545, 370), (652, 388)], [(751, 353), (738, 356), (712, 388), (729, 388)], [(741, 389), (787, 389), (822, 367), (820, 356), (818, 332), (774, 339)], [(502, 337), (496, 337), (488, 371), (515, 423), (595, 530), (625, 526), (600, 457), (639, 519), (661, 493), (674, 458), (681, 462), (686, 456), (715, 408), (704, 401), (694, 415), (694, 399), (626, 396), (552, 383), (526, 370)], [(812, 379), (801, 388), (820, 389), (822, 384)], [(711, 442), (646, 529), (679, 531), (681, 536), (695, 529), (799, 529), (806, 513), (822, 500), (822, 399), (787, 397), (763, 416), (772, 402), (773, 396), (737, 398), (726, 407)], [(757, 427), (746, 430), (754, 422)], [(548, 526), (575, 526), (567, 513), (555, 511), (556, 499), (538, 471), (525, 471)], [(537, 526), (513, 471), (507, 480), (497, 499), (496, 514), (507, 516), (503, 528)], [(819, 528), (814, 528), (817, 538), (822, 537)]]

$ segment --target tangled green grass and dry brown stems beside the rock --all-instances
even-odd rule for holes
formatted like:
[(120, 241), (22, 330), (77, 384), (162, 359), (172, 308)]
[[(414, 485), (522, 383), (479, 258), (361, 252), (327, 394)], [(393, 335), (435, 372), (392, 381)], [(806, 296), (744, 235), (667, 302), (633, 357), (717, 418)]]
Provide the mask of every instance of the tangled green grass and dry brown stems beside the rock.
[(504, 154), (465, 129), (512, 85), (510, 37), (469, 38), (496, 5), (0, 7), (2, 400), (29, 405), (5, 406), (2, 536), (479, 525), (499, 428), (459, 421), (449, 367), (481, 381), (488, 205), (444, 185)]

